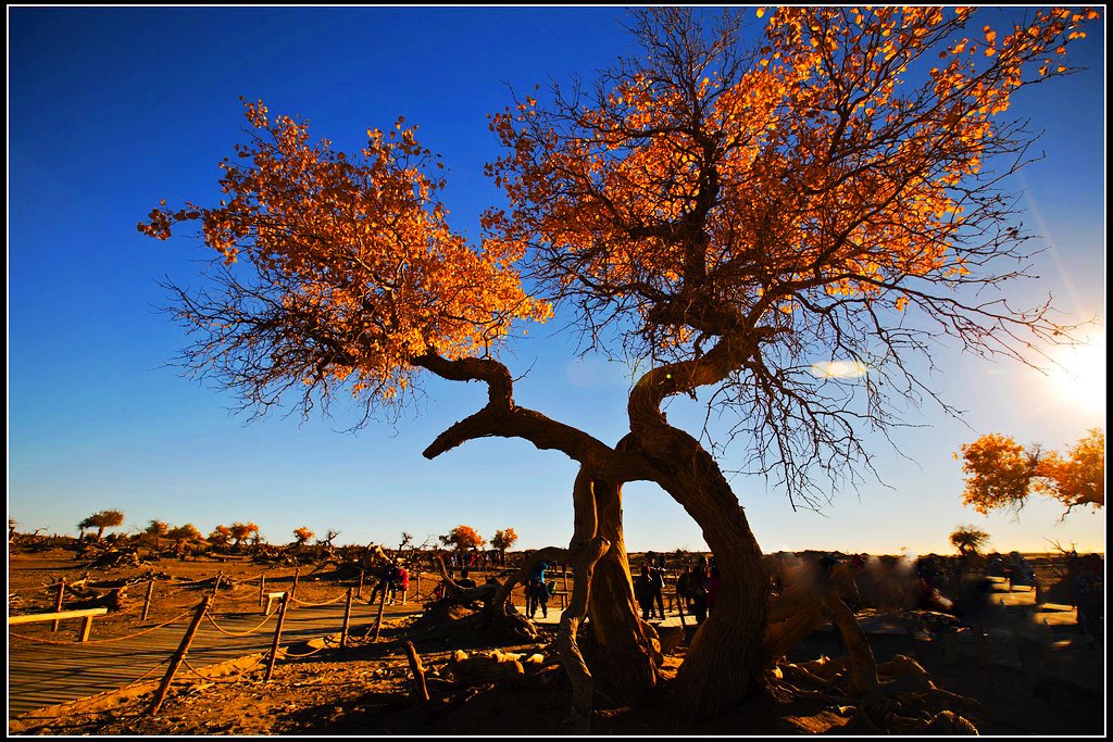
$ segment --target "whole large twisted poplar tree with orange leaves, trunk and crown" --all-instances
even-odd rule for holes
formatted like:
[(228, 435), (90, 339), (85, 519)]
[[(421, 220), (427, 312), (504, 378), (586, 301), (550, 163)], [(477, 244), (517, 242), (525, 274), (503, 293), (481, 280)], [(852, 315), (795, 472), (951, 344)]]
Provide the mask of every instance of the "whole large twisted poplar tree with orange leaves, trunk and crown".
[[(743, 12), (634, 11), (640, 56), (495, 115), (505, 149), (489, 170), (509, 202), (477, 244), (449, 227), (415, 128), (372, 129), (348, 155), (262, 102), (221, 162), (226, 199), (140, 225), (165, 239), (200, 224), (221, 259), (207, 288), (176, 290), (195, 339), (184, 359), (256, 413), (344, 394), (372, 415), (431, 373), (483, 382), (489, 402), (427, 457), (503, 436), (580, 463), (568, 555), (591, 558), (573, 605), (590, 612), (590, 670), (611, 698), (649, 690), (658, 656), (633, 602), (622, 485), (667, 491), (722, 575), (677, 677), (701, 715), (762, 667), (769, 581), (719, 462), (662, 403), (705, 393), (737, 413), (757, 468), (807, 499), (817, 474), (868, 465), (860, 435), (899, 422), (896, 403), (935, 396), (913, 368), (938, 338), (1031, 362), (1025, 348), (1066, 337), (1047, 306), (976, 291), (1021, 275), (1028, 238), (1001, 189), (1032, 140), (1003, 118), (1011, 96), (1070, 72), (1065, 47), (1096, 16), (1026, 10), (994, 29), (971, 9)], [(642, 364), (620, 442), (514, 398), (499, 352), (553, 307)]]

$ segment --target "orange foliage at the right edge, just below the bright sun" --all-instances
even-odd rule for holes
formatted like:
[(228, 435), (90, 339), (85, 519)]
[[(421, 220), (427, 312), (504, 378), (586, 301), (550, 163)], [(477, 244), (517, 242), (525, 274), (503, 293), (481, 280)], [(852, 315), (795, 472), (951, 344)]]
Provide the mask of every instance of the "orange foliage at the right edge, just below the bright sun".
[(962, 446), (966, 488), (963, 504), (978, 513), (1004, 508), (1020, 511), (1028, 496), (1042, 494), (1072, 508), (1105, 505), (1105, 432), (1100, 428), (1061, 455), (1036, 444), (1024, 448), (999, 433), (983, 435)]

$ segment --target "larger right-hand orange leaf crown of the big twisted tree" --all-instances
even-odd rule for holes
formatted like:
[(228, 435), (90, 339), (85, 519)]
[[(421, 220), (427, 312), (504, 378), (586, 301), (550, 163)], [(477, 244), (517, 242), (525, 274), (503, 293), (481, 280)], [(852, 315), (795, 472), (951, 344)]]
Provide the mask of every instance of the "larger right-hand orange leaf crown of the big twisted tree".
[(781, 7), (747, 65), (720, 69), (686, 40), (680, 62), (662, 53), (659, 75), (615, 76), (559, 117), (526, 98), (491, 123), (510, 154), (490, 174), (512, 208), (485, 226), (508, 251), (575, 256), (553, 258), (556, 286), (646, 299), (706, 275), (743, 308), (791, 311), (819, 294), (902, 310), (909, 279), (968, 273), (952, 249), (956, 186), (982, 169), (991, 117), (1025, 70), (1064, 71), (1051, 59), (1097, 14), (1038, 11), (1004, 38), (986, 27), (948, 43), (971, 12)]

